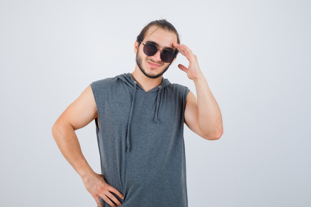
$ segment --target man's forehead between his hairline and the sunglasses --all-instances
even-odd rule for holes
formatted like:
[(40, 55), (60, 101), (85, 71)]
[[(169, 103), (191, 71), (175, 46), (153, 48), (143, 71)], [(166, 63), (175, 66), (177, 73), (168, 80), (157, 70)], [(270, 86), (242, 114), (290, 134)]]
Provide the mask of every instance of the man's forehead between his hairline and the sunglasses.
[(164, 30), (159, 26), (150, 27), (145, 37), (145, 42), (152, 41), (162, 47), (173, 47), (173, 43), (177, 43), (177, 36), (174, 32)]

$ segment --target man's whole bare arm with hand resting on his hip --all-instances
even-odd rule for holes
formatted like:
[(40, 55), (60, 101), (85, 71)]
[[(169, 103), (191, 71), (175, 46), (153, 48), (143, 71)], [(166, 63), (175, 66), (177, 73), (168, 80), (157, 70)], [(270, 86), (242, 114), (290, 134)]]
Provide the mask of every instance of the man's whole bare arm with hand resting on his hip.
[(75, 130), (85, 127), (96, 117), (97, 108), (94, 96), (91, 87), (88, 86), (55, 122), (52, 129), (53, 137), (64, 157), (82, 178), (85, 188), (93, 196), (97, 205), (102, 207), (99, 202), (99, 198), (102, 198), (111, 207), (115, 207), (115, 205), (110, 200), (121, 206), (112, 193), (121, 199), (123, 199), (123, 195), (107, 184), (102, 175), (96, 174), (91, 169), (81, 152), (75, 133)]

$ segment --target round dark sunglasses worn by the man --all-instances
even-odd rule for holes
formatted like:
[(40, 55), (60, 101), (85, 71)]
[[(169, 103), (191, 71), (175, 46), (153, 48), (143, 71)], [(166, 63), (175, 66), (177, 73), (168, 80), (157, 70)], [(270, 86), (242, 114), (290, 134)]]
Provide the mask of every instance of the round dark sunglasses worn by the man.
[(143, 51), (144, 51), (145, 55), (147, 55), (147, 56), (154, 56), (154, 55), (156, 55), (156, 52), (159, 50), (161, 52), (160, 58), (161, 58), (161, 60), (164, 63), (172, 62), (174, 60), (174, 58), (176, 57), (177, 53), (178, 53), (178, 51), (175, 54), (171, 50), (167, 50), (167, 49), (160, 50), (160, 49), (157, 49), (156, 45), (153, 44), (153, 43), (146, 43), (146, 44), (144, 44), (142, 42), (142, 40), (138, 40), (138, 41), (140, 41), (144, 45)]

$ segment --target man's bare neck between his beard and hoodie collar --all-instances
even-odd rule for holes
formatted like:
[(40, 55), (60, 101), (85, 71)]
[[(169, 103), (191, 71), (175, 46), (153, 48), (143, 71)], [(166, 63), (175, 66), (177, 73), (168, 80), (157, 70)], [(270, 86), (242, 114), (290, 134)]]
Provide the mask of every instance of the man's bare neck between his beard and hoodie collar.
[(155, 88), (162, 81), (162, 75), (157, 78), (147, 77), (137, 66), (135, 70), (131, 73), (136, 82), (146, 91), (150, 91)]

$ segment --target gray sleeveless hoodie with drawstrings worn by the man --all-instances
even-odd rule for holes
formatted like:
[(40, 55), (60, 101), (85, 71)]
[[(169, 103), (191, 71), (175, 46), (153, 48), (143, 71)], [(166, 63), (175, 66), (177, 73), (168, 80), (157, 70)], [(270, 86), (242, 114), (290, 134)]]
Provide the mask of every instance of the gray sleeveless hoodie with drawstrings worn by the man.
[(187, 207), (183, 126), (189, 89), (162, 78), (146, 92), (130, 73), (91, 88), (102, 174), (124, 195), (122, 207)]

